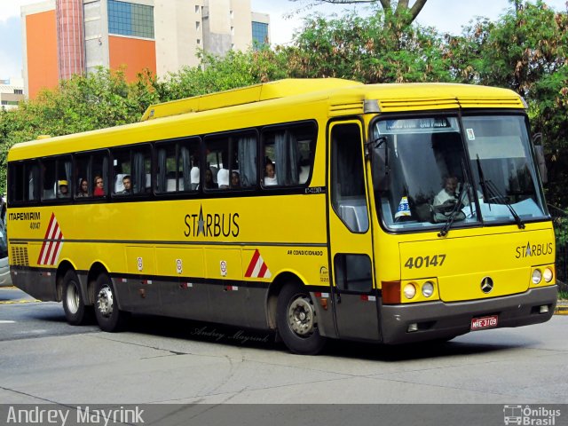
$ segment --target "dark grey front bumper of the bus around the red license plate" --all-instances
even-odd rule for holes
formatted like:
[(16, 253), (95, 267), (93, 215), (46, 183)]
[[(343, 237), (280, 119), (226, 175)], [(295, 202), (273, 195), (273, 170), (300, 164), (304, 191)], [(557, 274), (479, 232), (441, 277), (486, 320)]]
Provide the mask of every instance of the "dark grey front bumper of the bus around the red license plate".
[(383, 304), (383, 343), (450, 339), (469, 333), (472, 319), (495, 315), (497, 325), (494, 328), (539, 324), (552, 317), (557, 297), (555, 285), (531, 288), (519, 295), (467, 302)]

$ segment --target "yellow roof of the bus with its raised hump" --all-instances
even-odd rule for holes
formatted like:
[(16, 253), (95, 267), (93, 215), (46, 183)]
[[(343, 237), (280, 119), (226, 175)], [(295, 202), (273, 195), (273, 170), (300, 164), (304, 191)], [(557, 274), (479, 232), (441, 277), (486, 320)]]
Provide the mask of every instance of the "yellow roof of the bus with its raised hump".
[[(316, 110), (312, 106), (320, 105), (326, 111)], [(261, 106), (262, 104), (262, 106)], [(301, 105), (312, 106), (304, 108), (305, 114), (298, 114)], [(232, 108), (230, 108), (232, 107)], [(164, 138), (188, 136), (195, 130), (188, 130), (185, 120), (198, 124), (207, 115), (211, 118), (217, 114), (226, 114), (224, 108), (231, 109), (231, 116), (236, 113), (249, 113), (251, 121), (245, 126), (257, 125), (264, 122), (258, 118), (260, 110), (270, 114), (273, 111), (286, 108), (293, 110), (296, 116), (304, 115), (302, 119), (317, 118), (320, 114), (342, 116), (364, 113), (390, 113), (404, 111), (431, 111), (457, 108), (525, 108), (525, 101), (514, 91), (487, 86), (456, 84), (456, 83), (384, 83), (362, 84), (337, 78), (319, 79), (285, 79), (271, 83), (261, 83), (232, 91), (222, 91), (188, 99), (149, 106), (142, 117), (142, 122), (125, 124), (114, 128), (86, 131), (80, 134), (66, 135), (56, 138), (38, 137), (41, 140), (23, 142), (12, 146), (8, 154), (9, 161), (17, 161), (38, 156), (62, 154), (73, 151), (68, 144), (79, 144), (82, 149), (91, 150), (99, 147), (114, 145), (117, 132), (127, 131), (120, 140), (124, 145), (148, 141), (153, 134), (150, 128), (160, 126)], [(233, 109), (237, 108), (237, 109)], [(283, 110), (283, 109), (281, 109)], [(200, 113), (200, 114), (195, 114)], [(203, 116), (201, 114), (204, 114)], [(318, 115), (319, 114), (319, 115)], [(271, 115), (274, 120), (280, 120), (277, 114)], [(256, 117), (256, 118), (254, 118)], [(161, 118), (160, 120), (156, 120)], [(198, 122), (193, 122), (197, 119)], [(242, 120), (242, 116), (239, 118)], [(296, 119), (296, 118), (295, 118)], [(236, 120), (236, 119), (235, 119)], [(184, 124), (175, 129), (165, 131), (170, 121)], [(256, 122), (254, 124), (253, 122)], [(236, 124), (235, 124), (236, 125)], [(243, 122), (238, 122), (243, 125)], [(166, 127), (164, 127), (166, 126)], [(231, 124), (225, 129), (232, 130)], [(183, 131), (184, 134), (180, 132)], [(150, 135), (150, 136), (149, 136)], [(138, 140), (139, 139), (139, 140)]]

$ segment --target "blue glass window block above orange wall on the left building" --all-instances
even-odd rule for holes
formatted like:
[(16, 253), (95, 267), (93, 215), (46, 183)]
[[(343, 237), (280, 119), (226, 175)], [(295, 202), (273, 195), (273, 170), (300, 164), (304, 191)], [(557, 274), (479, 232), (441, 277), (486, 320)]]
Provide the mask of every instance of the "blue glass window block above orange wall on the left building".
[(154, 38), (154, 7), (108, 0), (108, 32)]

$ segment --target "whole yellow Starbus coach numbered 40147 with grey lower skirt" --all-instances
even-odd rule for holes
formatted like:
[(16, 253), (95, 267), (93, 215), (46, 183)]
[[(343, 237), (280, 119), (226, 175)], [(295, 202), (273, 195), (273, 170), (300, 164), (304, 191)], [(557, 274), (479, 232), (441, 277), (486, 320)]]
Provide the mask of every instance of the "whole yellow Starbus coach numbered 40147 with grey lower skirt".
[(328, 338), (447, 340), (556, 307), (525, 102), (443, 83), (282, 80), (10, 150), (13, 283), (92, 312)]

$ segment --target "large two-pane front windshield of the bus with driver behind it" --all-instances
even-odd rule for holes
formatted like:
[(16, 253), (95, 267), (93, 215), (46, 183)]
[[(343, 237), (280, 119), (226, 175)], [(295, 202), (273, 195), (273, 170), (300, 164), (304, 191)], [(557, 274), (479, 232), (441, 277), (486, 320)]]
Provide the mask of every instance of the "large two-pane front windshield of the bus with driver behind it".
[(523, 115), (383, 119), (371, 140), (376, 204), (391, 230), (548, 217)]

